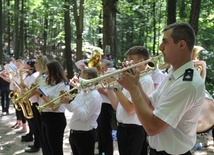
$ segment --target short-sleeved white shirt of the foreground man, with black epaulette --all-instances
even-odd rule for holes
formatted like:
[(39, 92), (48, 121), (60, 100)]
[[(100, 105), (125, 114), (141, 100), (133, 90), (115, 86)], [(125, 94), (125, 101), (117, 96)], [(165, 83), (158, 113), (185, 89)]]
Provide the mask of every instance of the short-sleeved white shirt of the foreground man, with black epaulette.
[[(186, 69), (193, 69), (192, 81), (185, 81)], [(189, 78), (189, 77), (187, 77)], [(196, 142), (197, 120), (205, 98), (205, 86), (192, 61), (169, 74), (150, 96), (153, 114), (169, 126), (149, 136), (149, 145), (157, 151), (183, 154)]]

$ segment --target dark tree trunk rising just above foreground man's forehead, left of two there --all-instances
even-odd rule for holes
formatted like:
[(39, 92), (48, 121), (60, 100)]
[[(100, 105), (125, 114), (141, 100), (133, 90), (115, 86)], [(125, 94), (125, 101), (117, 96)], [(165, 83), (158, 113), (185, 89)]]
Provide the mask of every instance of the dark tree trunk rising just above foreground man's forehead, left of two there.
[(177, 0), (167, 0), (167, 25), (176, 22)]

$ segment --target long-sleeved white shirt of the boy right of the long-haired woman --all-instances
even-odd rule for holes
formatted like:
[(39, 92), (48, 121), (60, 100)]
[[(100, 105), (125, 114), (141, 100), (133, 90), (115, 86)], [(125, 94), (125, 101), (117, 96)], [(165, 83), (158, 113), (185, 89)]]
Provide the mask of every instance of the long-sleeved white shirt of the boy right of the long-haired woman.
[(97, 118), (101, 111), (102, 98), (97, 90), (84, 92), (66, 104), (66, 108), (73, 112), (70, 120), (70, 129), (89, 131), (97, 128)]

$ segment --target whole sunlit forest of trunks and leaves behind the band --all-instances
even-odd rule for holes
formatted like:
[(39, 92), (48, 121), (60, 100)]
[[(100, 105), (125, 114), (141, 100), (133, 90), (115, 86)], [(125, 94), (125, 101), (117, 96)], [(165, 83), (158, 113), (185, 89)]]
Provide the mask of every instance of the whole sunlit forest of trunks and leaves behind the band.
[[(213, 0), (1, 0), (0, 63), (8, 57), (35, 54), (56, 57), (73, 77), (74, 62), (103, 49), (115, 65), (134, 45), (159, 55), (162, 29), (174, 22), (188, 22), (205, 50), (206, 89), (214, 95)], [(72, 60), (72, 61), (71, 61)]]

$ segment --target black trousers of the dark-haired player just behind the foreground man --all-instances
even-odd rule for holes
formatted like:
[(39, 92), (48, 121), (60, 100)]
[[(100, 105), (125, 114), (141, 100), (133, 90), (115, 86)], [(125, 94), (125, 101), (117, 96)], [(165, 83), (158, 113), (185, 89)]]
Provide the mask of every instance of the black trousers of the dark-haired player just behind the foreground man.
[(118, 123), (117, 140), (120, 155), (144, 154), (146, 132), (142, 126)]

